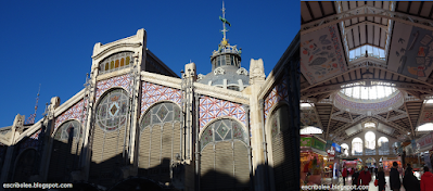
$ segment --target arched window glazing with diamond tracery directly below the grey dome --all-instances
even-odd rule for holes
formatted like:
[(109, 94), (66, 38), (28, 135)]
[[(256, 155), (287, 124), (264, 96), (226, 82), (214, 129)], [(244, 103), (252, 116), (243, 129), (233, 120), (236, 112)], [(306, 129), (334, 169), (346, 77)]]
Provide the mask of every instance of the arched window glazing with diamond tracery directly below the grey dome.
[(233, 119), (219, 119), (204, 129), (200, 138), (200, 148), (203, 150), (211, 142), (238, 139), (249, 145), (249, 136), (242, 125)]

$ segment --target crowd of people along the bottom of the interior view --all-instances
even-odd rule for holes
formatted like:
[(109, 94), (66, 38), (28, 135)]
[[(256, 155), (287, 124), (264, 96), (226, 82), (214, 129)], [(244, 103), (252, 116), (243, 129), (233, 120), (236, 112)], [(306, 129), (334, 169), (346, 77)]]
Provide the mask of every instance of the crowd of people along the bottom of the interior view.
[[(379, 187), (379, 191), (385, 190), (386, 187), (393, 191), (399, 191), (402, 187), (406, 191), (433, 191), (433, 174), (430, 173), (429, 167), (424, 167), (423, 170), (421, 181), (413, 175), (410, 164), (407, 165), (404, 175), (400, 176), (398, 164), (394, 162), (390, 170), (390, 182), (386, 183), (385, 173), (383, 167), (380, 167), (374, 169), (374, 184)], [(344, 167), (342, 171), (343, 184), (346, 184), (346, 179), (351, 176), (353, 186), (369, 186), (372, 180), (372, 169), (367, 166), (359, 170)]]

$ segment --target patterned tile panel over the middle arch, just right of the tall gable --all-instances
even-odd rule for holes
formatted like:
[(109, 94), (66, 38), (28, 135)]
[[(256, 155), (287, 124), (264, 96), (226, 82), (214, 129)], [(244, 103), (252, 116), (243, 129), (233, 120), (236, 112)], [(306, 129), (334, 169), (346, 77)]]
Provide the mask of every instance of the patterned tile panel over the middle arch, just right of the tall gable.
[(155, 85), (143, 81), (142, 96), (141, 96), (141, 114), (149, 109), (153, 103), (171, 100), (175, 103), (181, 105), (181, 91), (178, 89)]

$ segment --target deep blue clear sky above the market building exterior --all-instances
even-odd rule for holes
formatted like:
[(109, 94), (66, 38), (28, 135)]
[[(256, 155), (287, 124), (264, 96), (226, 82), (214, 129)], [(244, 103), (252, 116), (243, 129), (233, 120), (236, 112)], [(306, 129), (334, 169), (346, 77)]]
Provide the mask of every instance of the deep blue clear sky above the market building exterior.
[[(242, 66), (263, 59), (268, 75), (300, 29), (300, 2), (225, 1), (229, 43), (242, 48)], [(84, 88), (97, 42), (148, 33), (148, 48), (180, 75), (190, 60), (211, 72), (222, 38), (221, 1), (0, 1), (0, 127), (16, 114), (36, 119), (52, 97), (64, 103)]]

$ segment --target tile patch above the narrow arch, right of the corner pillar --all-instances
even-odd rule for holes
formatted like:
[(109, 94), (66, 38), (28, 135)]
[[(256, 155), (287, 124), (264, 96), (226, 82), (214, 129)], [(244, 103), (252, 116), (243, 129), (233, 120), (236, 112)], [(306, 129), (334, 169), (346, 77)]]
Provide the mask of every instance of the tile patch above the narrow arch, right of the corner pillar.
[(284, 76), (272, 89), (272, 91), (265, 99), (265, 122), (269, 115), (270, 109), (280, 102), (281, 100), (285, 100), (289, 102), (289, 90), (288, 85), (285, 84), (285, 79), (289, 76)]

